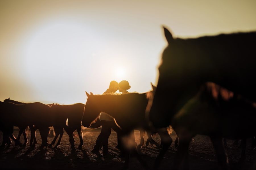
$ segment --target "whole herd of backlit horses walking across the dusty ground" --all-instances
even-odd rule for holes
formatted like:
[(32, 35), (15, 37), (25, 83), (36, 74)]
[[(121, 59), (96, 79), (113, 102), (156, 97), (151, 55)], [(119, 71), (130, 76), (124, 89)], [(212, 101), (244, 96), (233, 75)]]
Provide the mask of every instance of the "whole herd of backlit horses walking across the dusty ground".
[[(86, 92), (85, 105), (44, 105), (6, 99), (0, 103), (0, 130), (3, 132), (0, 147), (10, 145), (10, 138), (22, 147), (18, 139), (22, 133), (26, 136), (24, 130), (29, 127), (30, 146), (36, 144), (35, 131), (39, 129), (43, 148), (48, 146), (49, 127), (53, 126), (56, 136), (50, 147), (58, 135), (55, 147), (60, 145), (65, 129), (71, 148), (74, 148), (73, 132), (77, 130), (81, 148), (81, 124), (92, 128), (99, 113), (106, 112), (122, 129), (123, 139), (138, 128), (160, 135), (162, 149), (154, 168), (160, 165), (172, 143), (172, 129), (179, 137), (174, 169), (188, 169), (189, 143), (197, 134), (210, 137), (222, 169), (229, 169), (223, 138), (241, 139), (239, 162), (243, 163), (245, 140), (256, 136), (256, 32), (179, 39), (164, 28), (164, 35), (168, 46), (162, 54), (158, 85), (152, 86), (152, 91), (122, 95)], [(17, 139), (13, 136), (13, 126), (20, 128)], [(142, 132), (139, 146), (143, 145)], [(151, 135), (149, 137), (147, 143), (154, 143)], [(122, 143), (127, 146), (123, 149), (125, 167), (128, 167), (129, 153), (134, 147), (129, 147), (127, 140)], [(140, 155), (136, 156), (147, 168)]]

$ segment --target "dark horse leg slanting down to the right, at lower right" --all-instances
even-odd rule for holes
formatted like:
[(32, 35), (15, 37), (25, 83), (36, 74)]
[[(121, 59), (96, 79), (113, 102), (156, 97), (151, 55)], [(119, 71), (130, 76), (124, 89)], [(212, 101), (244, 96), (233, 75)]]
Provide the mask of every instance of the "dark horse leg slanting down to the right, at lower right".
[(216, 151), (218, 162), (222, 169), (229, 169), (228, 166), (228, 157), (224, 149), (222, 138), (220, 137), (210, 137), (212, 145)]

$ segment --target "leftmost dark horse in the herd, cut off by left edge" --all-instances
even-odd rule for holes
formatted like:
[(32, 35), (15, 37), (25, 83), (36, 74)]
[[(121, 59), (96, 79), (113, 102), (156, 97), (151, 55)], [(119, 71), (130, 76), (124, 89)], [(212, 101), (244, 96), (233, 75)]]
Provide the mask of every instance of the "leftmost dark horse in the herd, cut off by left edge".
[[(0, 103), (0, 124), (4, 129), (9, 129), (8, 135), (11, 137), (13, 126), (27, 127), (35, 125), (40, 131), (42, 145), (48, 146), (49, 126), (53, 126), (51, 107), (42, 103), (27, 103), (16, 105), (14, 103)], [(12, 129), (12, 131), (10, 131)]]

